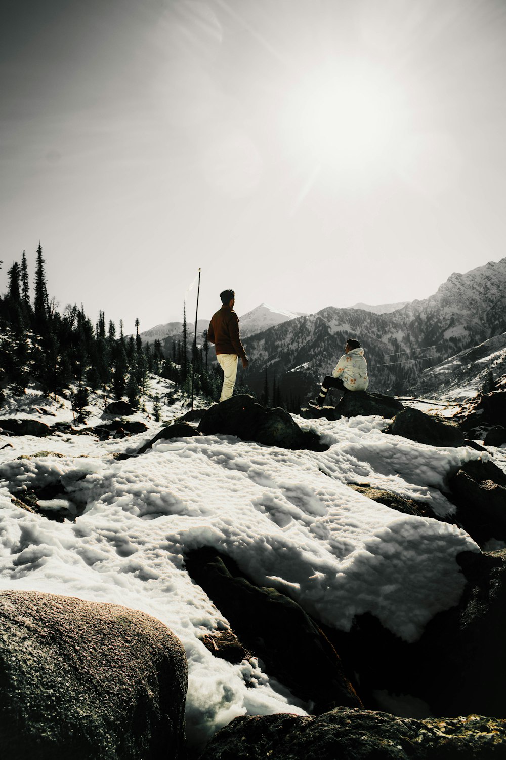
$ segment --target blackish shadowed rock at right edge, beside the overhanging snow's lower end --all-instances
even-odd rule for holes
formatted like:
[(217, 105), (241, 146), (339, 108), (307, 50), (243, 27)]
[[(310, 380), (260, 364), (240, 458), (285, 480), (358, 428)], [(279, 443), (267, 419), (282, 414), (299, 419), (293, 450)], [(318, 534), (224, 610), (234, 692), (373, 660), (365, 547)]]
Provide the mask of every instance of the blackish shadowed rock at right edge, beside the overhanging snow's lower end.
[(418, 645), (426, 695), (435, 714), (504, 716), (506, 550), (457, 562), (467, 578), (460, 602), (429, 622)]

